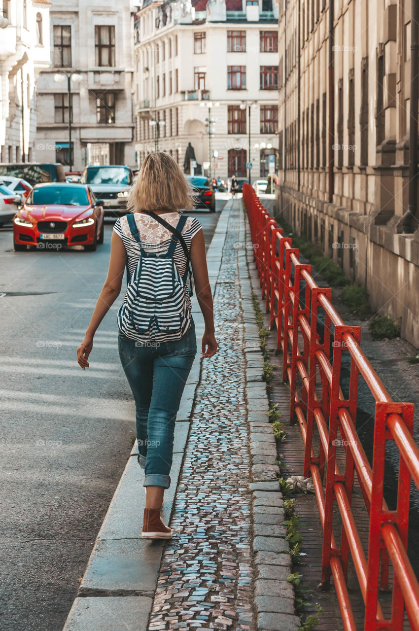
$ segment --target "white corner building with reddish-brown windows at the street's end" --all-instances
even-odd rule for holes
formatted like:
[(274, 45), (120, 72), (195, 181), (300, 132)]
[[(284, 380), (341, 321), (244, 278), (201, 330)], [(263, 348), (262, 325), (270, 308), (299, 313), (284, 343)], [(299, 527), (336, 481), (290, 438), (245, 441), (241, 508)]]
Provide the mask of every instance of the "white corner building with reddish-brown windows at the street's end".
[(191, 143), (196, 174), (247, 179), (250, 162), (252, 182), (266, 176), (278, 159), (278, 4), (144, 0), (135, 28), (138, 165), (158, 146), (183, 168)]

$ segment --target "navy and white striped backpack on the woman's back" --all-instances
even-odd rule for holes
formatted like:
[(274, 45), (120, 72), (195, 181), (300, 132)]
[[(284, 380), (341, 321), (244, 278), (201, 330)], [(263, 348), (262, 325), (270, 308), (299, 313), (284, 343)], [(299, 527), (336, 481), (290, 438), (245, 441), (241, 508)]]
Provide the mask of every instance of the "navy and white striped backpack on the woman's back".
[[(174, 228), (155, 213), (150, 215), (173, 233), (166, 254), (151, 254), (141, 246), (138, 228), (132, 214), (127, 215), (131, 233), (139, 244), (141, 256), (128, 282), (126, 300), (117, 313), (122, 335), (141, 344), (180, 339), (189, 329), (192, 317), (187, 307), (186, 285), (189, 273), (189, 251), (180, 234), (187, 220), (180, 216)], [(173, 259), (178, 240), (187, 257), (183, 278)]]

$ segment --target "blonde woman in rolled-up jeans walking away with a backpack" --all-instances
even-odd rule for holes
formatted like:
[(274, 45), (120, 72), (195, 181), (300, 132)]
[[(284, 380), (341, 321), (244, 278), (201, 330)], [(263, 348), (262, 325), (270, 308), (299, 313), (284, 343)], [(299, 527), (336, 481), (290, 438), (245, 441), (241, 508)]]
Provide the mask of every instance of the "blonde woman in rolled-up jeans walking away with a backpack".
[(77, 350), (85, 370), (93, 336), (127, 270), (117, 315), (119, 357), (136, 404), (138, 463), (146, 488), (142, 536), (151, 539), (172, 537), (160, 509), (170, 486), (175, 418), (196, 355), (189, 259), (204, 317), (203, 357), (217, 350), (203, 230), (196, 218), (180, 214), (193, 207), (192, 189), (173, 158), (162, 151), (146, 156), (129, 194), (131, 213), (115, 222), (107, 279)]

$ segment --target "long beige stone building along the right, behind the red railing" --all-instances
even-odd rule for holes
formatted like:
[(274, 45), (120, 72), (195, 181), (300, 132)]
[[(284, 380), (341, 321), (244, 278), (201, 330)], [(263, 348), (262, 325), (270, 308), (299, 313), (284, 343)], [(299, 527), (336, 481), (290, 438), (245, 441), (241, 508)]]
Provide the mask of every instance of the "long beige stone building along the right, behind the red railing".
[[(278, 211), (419, 346), (410, 0), (280, 0)], [(329, 23), (333, 8), (333, 28)], [(333, 70), (329, 70), (329, 61)]]

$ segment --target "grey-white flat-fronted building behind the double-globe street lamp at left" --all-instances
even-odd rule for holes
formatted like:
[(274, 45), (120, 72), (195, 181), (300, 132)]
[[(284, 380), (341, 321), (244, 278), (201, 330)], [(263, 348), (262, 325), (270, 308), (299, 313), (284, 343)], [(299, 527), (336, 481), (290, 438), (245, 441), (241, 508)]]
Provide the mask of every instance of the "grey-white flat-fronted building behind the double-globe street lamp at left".
[(131, 0), (57, 0), (50, 16), (51, 66), (38, 82), (37, 160), (69, 165), (70, 76), (73, 169), (133, 166)]

